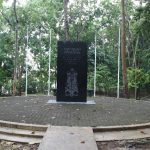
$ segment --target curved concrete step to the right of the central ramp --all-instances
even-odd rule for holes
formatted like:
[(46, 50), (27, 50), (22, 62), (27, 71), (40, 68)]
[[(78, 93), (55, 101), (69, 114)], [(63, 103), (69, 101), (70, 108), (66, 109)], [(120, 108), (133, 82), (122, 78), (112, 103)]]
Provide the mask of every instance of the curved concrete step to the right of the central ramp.
[(93, 128), (96, 141), (121, 141), (150, 138), (150, 123)]

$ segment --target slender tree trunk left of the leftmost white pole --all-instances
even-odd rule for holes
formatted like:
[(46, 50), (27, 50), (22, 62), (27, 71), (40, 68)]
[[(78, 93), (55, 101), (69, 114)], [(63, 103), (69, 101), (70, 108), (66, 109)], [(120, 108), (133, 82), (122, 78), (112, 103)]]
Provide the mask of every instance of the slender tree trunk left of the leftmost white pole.
[(14, 77), (13, 77), (13, 95), (16, 95), (17, 82), (17, 63), (18, 63), (18, 18), (16, 12), (16, 0), (14, 0), (14, 15), (15, 15), (15, 58), (14, 58)]

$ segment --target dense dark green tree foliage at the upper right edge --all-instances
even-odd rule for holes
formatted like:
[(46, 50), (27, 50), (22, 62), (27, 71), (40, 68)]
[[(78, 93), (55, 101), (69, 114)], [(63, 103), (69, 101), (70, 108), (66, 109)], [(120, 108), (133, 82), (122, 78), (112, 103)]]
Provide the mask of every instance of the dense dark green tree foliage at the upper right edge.
[[(148, 51), (150, 49), (150, 3), (147, 3), (145, 7), (137, 8), (134, 19), (132, 20), (132, 33), (133, 42), (136, 44), (136, 37), (139, 38), (138, 48), (141, 51)], [(144, 52), (145, 53), (145, 52)], [(142, 54), (143, 55), (143, 54)], [(141, 55), (141, 56), (142, 56)], [(143, 59), (144, 60), (144, 59)]]

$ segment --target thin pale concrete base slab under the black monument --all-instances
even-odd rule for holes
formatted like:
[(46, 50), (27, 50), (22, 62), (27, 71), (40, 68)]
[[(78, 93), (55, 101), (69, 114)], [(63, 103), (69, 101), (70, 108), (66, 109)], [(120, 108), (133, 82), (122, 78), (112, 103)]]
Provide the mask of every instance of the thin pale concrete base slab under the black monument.
[(57, 102), (56, 100), (49, 100), (48, 104), (88, 104), (94, 105), (96, 104), (94, 100), (88, 100), (87, 102)]

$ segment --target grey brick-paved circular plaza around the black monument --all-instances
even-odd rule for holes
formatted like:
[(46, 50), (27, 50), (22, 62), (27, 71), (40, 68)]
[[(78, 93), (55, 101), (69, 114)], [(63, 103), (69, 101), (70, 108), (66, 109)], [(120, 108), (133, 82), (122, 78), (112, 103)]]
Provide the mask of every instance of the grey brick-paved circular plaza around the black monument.
[(150, 122), (150, 101), (99, 97), (96, 105), (48, 104), (47, 96), (0, 98), (0, 120), (57, 126), (112, 126)]

